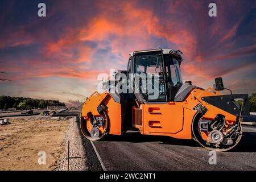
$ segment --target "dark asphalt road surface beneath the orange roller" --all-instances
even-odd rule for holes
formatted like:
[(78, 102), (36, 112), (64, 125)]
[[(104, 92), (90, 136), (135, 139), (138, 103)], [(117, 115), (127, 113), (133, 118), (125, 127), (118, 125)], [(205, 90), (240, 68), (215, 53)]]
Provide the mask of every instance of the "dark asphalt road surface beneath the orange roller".
[(107, 170), (255, 170), (256, 127), (243, 126), (243, 137), (233, 150), (217, 152), (209, 164), (209, 151), (193, 140), (129, 132), (93, 142)]

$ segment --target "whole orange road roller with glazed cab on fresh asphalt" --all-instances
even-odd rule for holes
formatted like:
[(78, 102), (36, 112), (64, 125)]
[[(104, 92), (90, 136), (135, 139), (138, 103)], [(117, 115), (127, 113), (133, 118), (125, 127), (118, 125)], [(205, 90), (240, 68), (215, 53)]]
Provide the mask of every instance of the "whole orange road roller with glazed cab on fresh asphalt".
[(114, 73), (101, 92), (82, 105), (80, 127), (89, 140), (137, 130), (142, 135), (194, 139), (215, 151), (228, 151), (242, 137), (248, 94), (221, 94), (222, 78), (207, 89), (181, 80), (183, 53), (150, 49), (130, 53), (127, 70)]

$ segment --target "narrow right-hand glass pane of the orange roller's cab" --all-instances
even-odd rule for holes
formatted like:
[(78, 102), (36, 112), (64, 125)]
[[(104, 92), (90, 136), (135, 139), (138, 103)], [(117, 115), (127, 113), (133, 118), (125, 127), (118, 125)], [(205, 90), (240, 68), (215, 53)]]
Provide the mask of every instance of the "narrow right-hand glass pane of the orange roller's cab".
[(181, 86), (182, 79), (180, 75), (180, 67), (175, 56), (164, 55), (166, 66), (166, 80), (168, 86)]

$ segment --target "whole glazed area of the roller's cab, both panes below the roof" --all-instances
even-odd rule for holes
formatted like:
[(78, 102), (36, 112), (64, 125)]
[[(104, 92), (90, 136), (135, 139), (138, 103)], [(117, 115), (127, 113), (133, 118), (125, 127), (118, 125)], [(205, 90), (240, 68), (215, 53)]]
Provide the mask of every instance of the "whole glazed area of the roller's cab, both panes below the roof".
[(174, 100), (182, 85), (177, 57), (151, 52), (136, 55), (134, 62), (135, 89), (145, 100)]

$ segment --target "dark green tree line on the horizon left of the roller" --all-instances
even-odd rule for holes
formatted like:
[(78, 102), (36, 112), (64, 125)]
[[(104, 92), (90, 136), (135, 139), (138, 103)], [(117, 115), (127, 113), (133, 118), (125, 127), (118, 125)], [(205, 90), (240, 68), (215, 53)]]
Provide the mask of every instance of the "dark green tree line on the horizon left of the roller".
[(0, 109), (37, 109), (47, 106), (65, 106), (63, 102), (57, 100), (38, 100), (27, 97), (0, 96)]

